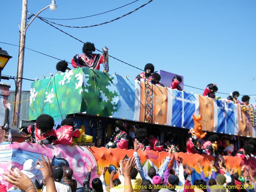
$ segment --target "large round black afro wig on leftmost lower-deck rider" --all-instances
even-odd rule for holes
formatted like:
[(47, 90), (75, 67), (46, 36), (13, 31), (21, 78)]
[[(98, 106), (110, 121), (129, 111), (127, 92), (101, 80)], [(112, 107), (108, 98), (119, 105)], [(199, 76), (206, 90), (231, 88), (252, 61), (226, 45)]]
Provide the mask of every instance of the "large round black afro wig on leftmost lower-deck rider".
[(54, 119), (52, 116), (43, 114), (37, 117), (36, 127), (41, 130), (41, 133), (50, 131), (54, 126)]

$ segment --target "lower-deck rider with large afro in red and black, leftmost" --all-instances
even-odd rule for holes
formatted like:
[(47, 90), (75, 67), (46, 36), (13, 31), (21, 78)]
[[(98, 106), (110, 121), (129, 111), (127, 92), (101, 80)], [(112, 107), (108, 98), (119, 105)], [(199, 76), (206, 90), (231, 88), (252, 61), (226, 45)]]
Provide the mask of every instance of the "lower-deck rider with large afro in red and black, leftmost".
[(58, 140), (57, 134), (53, 129), (54, 119), (52, 116), (43, 114), (37, 117), (36, 123), (30, 125), (27, 128), (24, 128), (24, 131), (27, 134), (31, 134), (32, 143), (39, 143), (46, 145), (47, 143), (54, 144), (53, 140)]

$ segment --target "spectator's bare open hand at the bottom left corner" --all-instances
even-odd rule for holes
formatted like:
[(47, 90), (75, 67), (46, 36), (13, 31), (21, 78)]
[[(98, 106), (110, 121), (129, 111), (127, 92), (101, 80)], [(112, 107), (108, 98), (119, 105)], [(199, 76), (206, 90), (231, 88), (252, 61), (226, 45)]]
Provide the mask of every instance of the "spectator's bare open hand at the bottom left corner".
[(18, 168), (15, 168), (15, 169), (19, 173), (19, 175), (17, 175), (16, 173), (14, 173), (10, 169), (7, 169), (7, 171), (9, 171), (10, 174), (3, 173), (3, 175), (8, 177), (9, 179), (8, 178), (3, 178), (3, 180), (5, 180), (5, 181), (7, 181), (7, 182), (9, 182), (13, 185), (16, 185), (22, 191), (27, 191), (28, 188), (34, 187), (34, 183), (32, 183), (32, 181), (28, 178), (27, 175), (20, 172), (20, 170)]

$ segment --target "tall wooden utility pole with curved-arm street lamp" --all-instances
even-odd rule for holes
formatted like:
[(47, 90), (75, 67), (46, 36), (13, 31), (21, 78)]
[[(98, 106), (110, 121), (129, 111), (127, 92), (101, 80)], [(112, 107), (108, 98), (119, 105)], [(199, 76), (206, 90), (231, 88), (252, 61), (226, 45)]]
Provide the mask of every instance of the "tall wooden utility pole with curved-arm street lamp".
[[(26, 39), (26, 30), (31, 22), (36, 18), (36, 16), (50, 7), (51, 11), (57, 11), (57, 5), (55, 1), (52, 0), (52, 4), (48, 5), (41, 11), (39, 11), (35, 17), (27, 25), (27, 4), (28, 0), (22, 1), (22, 15), (21, 15), (21, 26), (20, 26), (20, 47), (19, 47), (19, 60), (18, 60), (18, 70), (17, 70), (17, 83), (15, 88), (15, 103), (14, 111), (20, 113), (20, 96), (21, 96), (21, 87), (22, 87), (22, 78), (23, 78), (23, 65), (24, 65), (24, 51), (25, 51), (25, 39)], [(12, 124), (16, 127), (19, 125), (19, 115), (14, 114)]]

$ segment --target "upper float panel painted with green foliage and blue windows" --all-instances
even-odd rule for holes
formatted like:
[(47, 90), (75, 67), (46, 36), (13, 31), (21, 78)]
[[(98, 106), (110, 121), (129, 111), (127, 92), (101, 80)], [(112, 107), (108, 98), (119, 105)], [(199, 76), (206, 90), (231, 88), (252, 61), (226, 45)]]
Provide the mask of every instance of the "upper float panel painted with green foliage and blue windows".
[(255, 136), (247, 112), (237, 104), (99, 70), (76, 68), (31, 85), (30, 120), (42, 113), (53, 117), (84, 113), (191, 129), (194, 112), (202, 115), (204, 131)]

